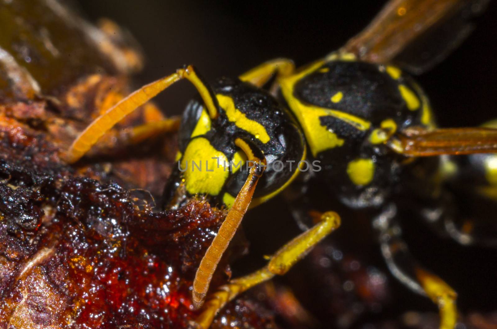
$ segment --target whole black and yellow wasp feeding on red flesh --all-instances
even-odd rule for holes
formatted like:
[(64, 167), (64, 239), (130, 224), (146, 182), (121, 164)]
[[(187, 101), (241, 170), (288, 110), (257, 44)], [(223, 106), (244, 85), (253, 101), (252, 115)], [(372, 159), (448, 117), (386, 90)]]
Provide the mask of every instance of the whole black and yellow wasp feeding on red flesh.
[[(454, 17), (474, 2), (391, 0), (343, 47), (297, 69), (291, 60), (275, 59), (238, 78), (208, 83), (195, 67), (184, 66), (96, 118), (73, 142), (66, 160), (77, 162), (137, 107), (186, 79), (198, 98), (189, 102), (180, 119), (178, 167), (165, 188), (165, 207), (201, 195), (228, 209), (196, 273), (192, 300), (197, 308), (203, 306), (217, 264), (249, 207), (285, 190), (312, 162), (322, 169), (314, 174), (345, 205), (378, 209), (373, 225), (380, 232), (391, 272), (438, 305), (440, 328), (454, 328), (456, 293), (410, 255), (397, 224), (397, 192), (412, 193), (419, 208), (427, 210), (426, 218), (443, 222), (461, 241), (473, 241), (474, 230), (458, 229), (459, 218), (443, 211), (454, 202), (446, 200), (443, 185), (472, 181), (461, 174), (466, 165), (478, 168), (466, 172), (482, 176), (488, 185), (475, 186), (471, 195), (492, 196), (497, 184), (492, 155), (497, 151), (497, 130), (437, 128), (429, 100), (407, 73), (420, 73), (429, 65), (404, 68), (396, 59), (417, 38), (436, 31), (438, 22), (457, 20)], [(158, 126), (145, 127), (145, 135), (154, 135)], [(440, 211), (430, 215), (430, 207)], [(208, 328), (239, 293), (286, 273), (341, 220), (333, 211), (312, 217), (318, 223), (278, 250), (265, 267), (212, 294), (196, 325)]]

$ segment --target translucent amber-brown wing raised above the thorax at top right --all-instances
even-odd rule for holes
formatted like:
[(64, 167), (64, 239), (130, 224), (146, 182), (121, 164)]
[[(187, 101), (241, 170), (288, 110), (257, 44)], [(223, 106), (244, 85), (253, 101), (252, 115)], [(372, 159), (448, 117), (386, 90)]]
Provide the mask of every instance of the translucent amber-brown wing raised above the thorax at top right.
[(391, 0), (342, 51), (372, 63), (397, 62), (414, 74), (442, 61), (473, 30), (490, 0)]

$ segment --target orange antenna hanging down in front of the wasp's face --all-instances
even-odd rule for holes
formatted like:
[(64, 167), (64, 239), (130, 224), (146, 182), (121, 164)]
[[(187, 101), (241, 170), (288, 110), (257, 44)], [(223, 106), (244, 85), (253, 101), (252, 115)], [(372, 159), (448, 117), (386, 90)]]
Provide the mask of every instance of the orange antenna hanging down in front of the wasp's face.
[(193, 280), (192, 292), (193, 306), (197, 309), (199, 309), (204, 303), (205, 296), (209, 290), (209, 285), (216, 267), (221, 260), (221, 256), (228, 248), (231, 239), (233, 239), (233, 236), (240, 226), (245, 213), (247, 212), (250, 201), (252, 200), (255, 186), (257, 185), (257, 181), (262, 175), (266, 165), (265, 159), (257, 159), (253, 155), (253, 152), (248, 144), (243, 140), (236, 139), (235, 145), (240, 147), (242, 151), (247, 154), (247, 158), (254, 164), (254, 166), (250, 168), (250, 172), (244, 186), (235, 198), (233, 206), (226, 215), (226, 219), (219, 228), (216, 237), (212, 240), (212, 243), (207, 249), (204, 257), (200, 261), (200, 265), (195, 274), (195, 279)]

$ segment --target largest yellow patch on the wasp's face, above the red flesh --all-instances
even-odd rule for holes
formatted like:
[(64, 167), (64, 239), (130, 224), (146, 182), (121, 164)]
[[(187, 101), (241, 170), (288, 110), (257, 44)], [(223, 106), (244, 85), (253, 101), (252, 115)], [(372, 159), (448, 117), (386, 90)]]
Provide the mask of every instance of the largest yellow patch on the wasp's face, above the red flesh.
[(218, 195), (230, 173), (226, 156), (203, 137), (190, 141), (180, 165), (190, 194)]

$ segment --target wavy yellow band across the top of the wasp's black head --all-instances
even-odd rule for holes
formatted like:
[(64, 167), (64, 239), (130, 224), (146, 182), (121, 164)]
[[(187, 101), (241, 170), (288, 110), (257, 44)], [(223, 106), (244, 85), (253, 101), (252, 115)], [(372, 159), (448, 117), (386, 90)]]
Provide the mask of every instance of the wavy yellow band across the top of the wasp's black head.
[(269, 135), (267, 134), (264, 126), (256, 121), (248, 119), (245, 113), (242, 113), (239, 109), (235, 108), (233, 98), (222, 94), (217, 94), (216, 98), (218, 99), (219, 106), (225, 110), (226, 116), (228, 116), (228, 120), (230, 120), (230, 122), (235, 122), (237, 127), (248, 131), (262, 143), (269, 142)]

